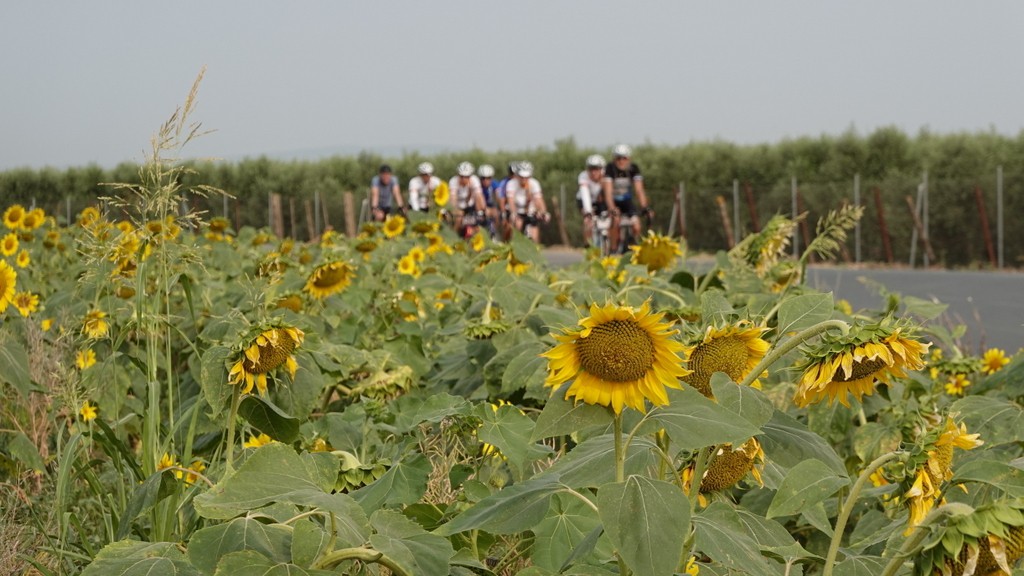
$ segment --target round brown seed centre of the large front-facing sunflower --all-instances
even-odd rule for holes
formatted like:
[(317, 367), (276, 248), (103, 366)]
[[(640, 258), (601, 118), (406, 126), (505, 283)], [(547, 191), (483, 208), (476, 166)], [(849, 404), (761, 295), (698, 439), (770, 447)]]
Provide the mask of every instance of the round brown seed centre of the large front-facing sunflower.
[(609, 382), (630, 382), (654, 364), (654, 341), (635, 320), (612, 320), (577, 340), (580, 366)]

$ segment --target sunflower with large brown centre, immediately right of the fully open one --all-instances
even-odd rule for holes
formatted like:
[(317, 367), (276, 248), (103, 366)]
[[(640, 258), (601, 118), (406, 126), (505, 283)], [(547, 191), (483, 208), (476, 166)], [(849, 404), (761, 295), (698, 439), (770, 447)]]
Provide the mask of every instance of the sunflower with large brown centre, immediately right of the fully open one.
[(709, 326), (690, 352), (687, 367), (693, 372), (683, 381), (708, 398), (712, 398), (711, 376), (715, 372), (725, 372), (734, 382), (742, 381), (768, 352), (768, 342), (761, 338), (767, 330), (749, 322), (727, 328)]

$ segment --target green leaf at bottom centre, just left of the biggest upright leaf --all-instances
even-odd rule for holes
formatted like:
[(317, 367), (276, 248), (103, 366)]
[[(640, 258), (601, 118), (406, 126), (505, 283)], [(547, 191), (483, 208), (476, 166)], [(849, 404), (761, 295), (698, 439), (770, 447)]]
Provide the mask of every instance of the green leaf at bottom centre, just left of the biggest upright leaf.
[[(532, 528), (534, 564), (557, 571), (600, 527), (597, 510), (574, 496), (555, 494), (548, 516)], [(605, 550), (605, 557), (610, 557), (611, 551)]]

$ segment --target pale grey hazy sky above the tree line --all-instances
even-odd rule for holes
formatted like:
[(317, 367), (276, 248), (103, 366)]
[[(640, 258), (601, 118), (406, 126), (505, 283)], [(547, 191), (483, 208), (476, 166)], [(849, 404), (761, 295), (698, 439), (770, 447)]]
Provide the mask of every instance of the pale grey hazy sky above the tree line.
[(20, 1), (0, 169), (187, 156), (1024, 128), (1013, 1)]

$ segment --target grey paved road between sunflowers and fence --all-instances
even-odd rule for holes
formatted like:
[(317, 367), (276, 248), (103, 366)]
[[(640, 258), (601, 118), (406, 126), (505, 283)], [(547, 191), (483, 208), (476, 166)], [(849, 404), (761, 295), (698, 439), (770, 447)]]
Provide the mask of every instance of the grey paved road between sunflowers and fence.
[[(546, 251), (554, 265), (568, 265), (582, 259), (578, 250)], [(710, 262), (690, 260), (694, 270), (707, 270)], [(963, 343), (968, 352), (1000, 347), (1014, 354), (1024, 346), (1024, 274), (1017, 272), (964, 272), (910, 269), (863, 269), (811, 266), (808, 285), (845, 298), (854, 310), (885, 305), (874, 285), (890, 292), (916, 296), (948, 304), (938, 320), (949, 326), (964, 324)]]

